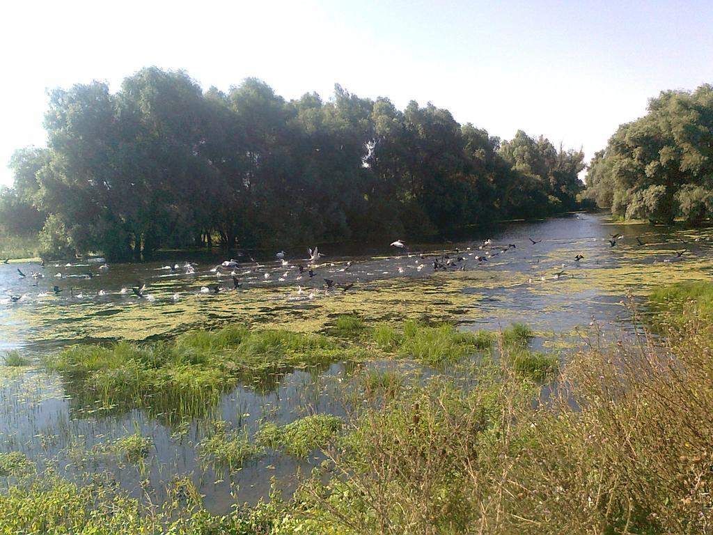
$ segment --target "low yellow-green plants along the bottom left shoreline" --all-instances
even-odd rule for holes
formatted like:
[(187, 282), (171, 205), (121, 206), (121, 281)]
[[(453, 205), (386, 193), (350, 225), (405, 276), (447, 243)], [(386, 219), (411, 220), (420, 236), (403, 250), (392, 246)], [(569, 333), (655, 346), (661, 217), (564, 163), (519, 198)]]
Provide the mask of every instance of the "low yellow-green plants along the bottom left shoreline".
[(145, 504), (111, 481), (95, 478), (79, 486), (47, 474), (0, 494), (0, 526), (4, 533), (13, 534), (289, 535), (301, 531), (338, 535), (289, 511), (277, 496), (252, 509), (214, 515), (205, 509), (200, 493), (188, 479), (178, 478), (164, 491), (166, 499), (161, 504)]

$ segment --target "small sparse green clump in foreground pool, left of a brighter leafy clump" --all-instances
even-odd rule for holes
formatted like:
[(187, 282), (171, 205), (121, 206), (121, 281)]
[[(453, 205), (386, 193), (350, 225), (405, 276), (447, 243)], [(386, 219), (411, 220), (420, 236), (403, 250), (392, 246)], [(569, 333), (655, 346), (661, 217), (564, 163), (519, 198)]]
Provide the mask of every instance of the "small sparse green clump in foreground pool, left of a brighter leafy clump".
[(230, 430), (227, 422), (222, 420), (213, 422), (212, 433), (198, 442), (196, 448), (201, 462), (212, 462), (230, 472), (262, 452), (261, 447), (250, 441), (247, 430)]

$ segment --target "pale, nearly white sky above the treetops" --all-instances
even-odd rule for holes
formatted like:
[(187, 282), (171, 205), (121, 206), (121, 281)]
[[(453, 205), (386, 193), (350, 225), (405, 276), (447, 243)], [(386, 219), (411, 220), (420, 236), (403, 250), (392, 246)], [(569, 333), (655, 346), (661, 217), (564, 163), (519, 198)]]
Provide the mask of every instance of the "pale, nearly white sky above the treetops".
[(334, 83), (461, 124), (523, 130), (587, 161), (668, 89), (713, 83), (713, 1), (8, 2), (0, 21), (0, 185), (25, 146), (45, 146), (47, 91), (145, 66), (204, 89), (261, 78), (284, 98)]

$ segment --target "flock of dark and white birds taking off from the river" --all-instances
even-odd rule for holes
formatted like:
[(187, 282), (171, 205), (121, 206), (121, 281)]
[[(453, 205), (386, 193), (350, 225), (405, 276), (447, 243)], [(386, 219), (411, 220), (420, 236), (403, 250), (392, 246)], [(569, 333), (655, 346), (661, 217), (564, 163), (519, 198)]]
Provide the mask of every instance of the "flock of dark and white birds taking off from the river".
[[(638, 236), (636, 236), (635, 239), (637, 247), (644, 247), (645, 245), (648, 245)], [(526, 245), (535, 246), (543, 241), (542, 238), (540, 238), (539, 240), (528, 238), (528, 240), (530, 243), (524, 245), (520, 244), (520, 248), (523, 248)], [(608, 239), (609, 247), (616, 247), (622, 242), (622, 240), (624, 240), (623, 235), (619, 233), (611, 234), (610, 239)], [(681, 240), (681, 243), (682, 245), (684, 245), (684, 249), (681, 251), (675, 250), (672, 258), (681, 258), (684, 254), (689, 252), (687, 247), (688, 243), (685, 240)], [(477, 263), (477, 265), (484, 265), (486, 263), (491, 262), (499, 255), (505, 255), (507, 253), (511, 253), (512, 251), (518, 250), (518, 246), (515, 243), (496, 245), (496, 243), (493, 243), (493, 240), (491, 239), (484, 240), (482, 243), (471, 243), (470, 245), (465, 246), (463, 250), (459, 248), (453, 248), (451, 250), (441, 253), (412, 253), (409, 246), (406, 245), (404, 240), (401, 239), (394, 240), (389, 244), (389, 247), (394, 250), (399, 250), (399, 255), (397, 256), (397, 258), (415, 257), (416, 262), (413, 265), (407, 264), (406, 267), (413, 268), (416, 270), (416, 272), (421, 272), (421, 270), (423, 270), (426, 265), (432, 265), (434, 272), (448, 272), (456, 270), (464, 271), (466, 270), (466, 266), (468, 266), (469, 262)], [(324, 254), (320, 252), (319, 248), (317, 247), (315, 247), (314, 249), (307, 248), (307, 257), (299, 260), (288, 260), (287, 253), (285, 253), (284, 250), (280, 250), (275, 254), (275, 260), (272, 260), (265, 264), (257, 262), (249, 255), (244, 256), (247, 257), (249, 261), (239, 261), (235, 258), (230, 258), (230, 260), (224, 260), (222, 261), (222, 263), (211, 267), (209, 270), (207, 270), (207, 272), (197, 272), (198, 264), (192, 262), (162, 265), (160, 267), (155, 268), (155, 270), (165, 272), (164, 275), (158, 275), (159, 277), (177, 277), (179, 275), (195, 275), (196, 277), (198, 277), (208, 276), (208, 274), (210, 274), (210, 276), (215, 276), (215, 282), (200, 285), (200, 287), (198, 287), (198, 289), (194, 291), (194, 293), (198, 294), (212, 295), (226, 292), (229, 290), (240, 290), (244, 285), (245, 277), (248, 277), (257, 282), (260, 281), (259, 275), (262, 275), (262, 282), (270, 282), (274, 280), (275, 276), (277, 276), (277, 281), (279, 282), (287, 282), (288, 280), (297, 282), (297, 295), (299, 297), (309, 299), (312, 299), (316, 292), (319, 291), (323, 291), (325, 294), (334, 290), (342, 290), (342, 292), (347, 292), (349, 290), (352, 290), (352, 288), (357, 283), (359, 283), (359, 277), (355, 278), (352, 274), (349, 273), (350, 268), (352, 268), (352, 266), (355, 264), (354, 260), (348, 260), (346, 263), (321, 263), (322, 258), (324, 258)], [(585, 260), (585, 256), (582, 253), (578, 253), (573, 257), (574, 263), (580, 263), (580, 261), (582, 260)], [(667, 262), (670, 261), (670, 259), (664, 261)], [(537, 259), (537, 262), (539, 263), (539, 259)], [(9, 260), (4, 260), (4, 263), (9, 263)], [(88, 266), (89, 264), (73, 265), (71, 263), (65, 265), (65, 267)], [(60, 265), (54, 264), (54, 267), (60, 267)], [(16, 268), (16, 270), (17, 275), (20, 279), (34, 279), (34, 286), (38, 286), (39, 279), (45, 277), (46, 263), (42, 261), (41, 263), (39, 263), (39, 269), (33, 270), (31, 272), (27, 270), (27, 273), (21, 270), (19, 267)], [(64, 277), (91, 279), (93, 277), (101, 275), (102, 273), (108, 272), (108, 270), (110, 270), (110, 266), (106, 263), (103, 263), (98, 266), (97, 273), (89, 270), (74, 275), (65, 275), (63, 274), (63, 272), (58, 271), (53, 276), (56, 277), (58, 280), (61, 280)], [(405, 272), (403, 265), (398, 267), (398, 272), (399, 274), (403, 274)], [(389, 275), (389, 272), (387, 271), (384, 271), (382, 273), (384, 275)], [(295, 276), (292, 277), (291, 274), (294, 274)], [(391, 274), (393, 275), (394, 273)], [(337, 277), (335, 277), (334, 275), (337, 275)], [(367, 273), (367, 275), (373, 274)], [(565, 275), (575, 276), (573, 274), (569, 274), (565, 270), (565, 264), (562, 264), (558, 266), (557, 271), (552, 273), (551, 277), (547, 277), (546, 275), (540, 275), (540, 280), (558, 280), (561, 277), (564, 277)], [(317, 281), (321, 279), (324, 284), (315, 285), (315, 278), (317, 279)], [(336, 280), (337, 278), (343, 280)], [(227, 280), (228, 282), (226, 283), (225, 280)], [(304, 284), (304, 282), (302, 282), (303, 280), (304, 282), (307, 282), (307, 286), (304, 288), (302, 287), (302, 285)], [(528, 282), (532, 283), (533, 278), (530, 277), (528, 279)], [(51, 295), (58, 296), (62, 292), (66, 292), (66, 290), (66, 287), (63, 288), (60, 285), (55, 284), (52, 285), (51, 291), (47, 290), (46, 292), (41, 292), (38, 294), (38, 297), (48, 297)], [(75, 292), (73, 286), (69, 287), (68, 290), (70, 296), (75, 299), (90, 297), (88, 293), (85, 295), (86, 290), (80, 290), (78, 292)], [(130, 287), (121, 287), (118, 294), (130, 295), (132, 297), (136, 297), (142, 300), (154, 300), (154, 297), (147, 292), (147, 284), (145, 281), (138, 281), (135, 285)], [(13, 293), (9, 295), (9, 299), (7, 300), (7, 302), (20, 302), (24, 299), (25, 295), (26, 294), (22, 293)], [(96, 295), (109, 295), (109, 293), (106, 292), (106, 290), (98, 290), (96, 292)], [(172, 299), (180, 300), (181, 297), (183, 297), (183, 294), (177, 292), (173, 294)]]

